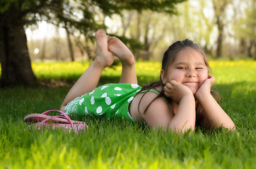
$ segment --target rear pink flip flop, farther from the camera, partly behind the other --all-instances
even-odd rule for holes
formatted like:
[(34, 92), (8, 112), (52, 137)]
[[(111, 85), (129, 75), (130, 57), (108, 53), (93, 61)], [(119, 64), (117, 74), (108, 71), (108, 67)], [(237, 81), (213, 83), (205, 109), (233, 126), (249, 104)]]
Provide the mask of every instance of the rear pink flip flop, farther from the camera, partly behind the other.
[[(32, 114), (29, 114), (29, 115), (26, 115), (25, 118), (24, 118), (24, 122), (34, 122), (34, 123), (37, 123), (37, 122), (41, 122), (42, 120), (45, 120), (47, 118), (52, 118), (52, 123), (69, 123), (68, 120), (66, 120), (66, 118), (64, 118), (63, 116), (50, 116), (50, 115), (46, 115), (47, 113), (50, 113), (50, 112), (54, 112), (54, 111), (57, 111), (59, 113), (62, 113), (62, 115), (64, 115), (64, 117), (66, 118), (69, 118), (68, 115), (66, 115), (66, 113), (64, 113), (63, 111), (58, 111), (58, 110), (50, 110), (50, 111), (45, 111), (44, 113), (32, 113)], [(69, 120), (71, 120), (69, 118)], [(71, 122), (73, 124), (83, 124), (83, 122), (81, 121), (75, 121), (75, 120), (71, 120)]]

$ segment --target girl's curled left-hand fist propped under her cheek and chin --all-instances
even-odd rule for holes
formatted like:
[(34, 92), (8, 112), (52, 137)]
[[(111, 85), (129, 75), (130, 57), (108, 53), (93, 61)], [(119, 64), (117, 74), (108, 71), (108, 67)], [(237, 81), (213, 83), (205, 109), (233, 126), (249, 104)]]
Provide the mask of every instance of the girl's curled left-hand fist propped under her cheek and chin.
[(176, 104), (179, 104), (180, 100), (184, 96), (193, 96), (193, 93), (190, 88), (176, 82), (175, 80), (171, 80), (170, 82), (166, 83), (165, 86), (163, 87), (163, 90), (165, 91), (165, 96), (175, 101)]

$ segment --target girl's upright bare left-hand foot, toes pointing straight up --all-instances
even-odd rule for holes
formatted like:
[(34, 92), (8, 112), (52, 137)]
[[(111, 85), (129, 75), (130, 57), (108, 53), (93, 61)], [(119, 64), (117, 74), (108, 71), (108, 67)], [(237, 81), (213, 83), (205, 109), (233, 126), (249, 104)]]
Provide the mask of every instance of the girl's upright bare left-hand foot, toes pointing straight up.
[(97, 30), (96, 34), (96, 57), (95, 61), (107, 67), (112, 65), (114, 58), (110, 51), (107, 50), (107, 35), (104, 30)]

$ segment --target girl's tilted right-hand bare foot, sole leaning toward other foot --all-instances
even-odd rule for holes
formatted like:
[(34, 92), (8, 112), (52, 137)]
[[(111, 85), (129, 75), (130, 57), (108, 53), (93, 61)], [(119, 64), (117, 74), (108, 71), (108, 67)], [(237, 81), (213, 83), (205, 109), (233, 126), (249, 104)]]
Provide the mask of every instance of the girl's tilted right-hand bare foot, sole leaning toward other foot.
[(134, 65), (134, 55), (117, 37), (110, 37), (108, 39), (107, 49), (120, 58), (122, 65)]

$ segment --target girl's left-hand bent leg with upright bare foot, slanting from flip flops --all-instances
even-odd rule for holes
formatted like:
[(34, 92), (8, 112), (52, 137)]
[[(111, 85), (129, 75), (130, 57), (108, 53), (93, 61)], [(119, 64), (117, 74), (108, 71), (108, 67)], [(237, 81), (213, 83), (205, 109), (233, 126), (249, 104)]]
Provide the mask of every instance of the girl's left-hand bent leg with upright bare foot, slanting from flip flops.
[(104, 30), (96, 32), (96, 57), (83, 75), (76, 81), (73, 87), (62, 103), (61, 111), (64, 111), (66, 105), (76, 97), (93, 91), (98, 85), (100, 75), (104, 68), (112, 65), (114, 58), (110, 51), (107, 51), (107, 35)]

